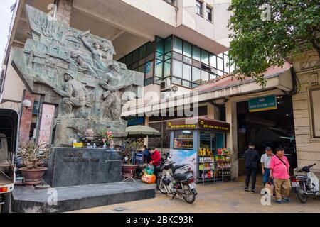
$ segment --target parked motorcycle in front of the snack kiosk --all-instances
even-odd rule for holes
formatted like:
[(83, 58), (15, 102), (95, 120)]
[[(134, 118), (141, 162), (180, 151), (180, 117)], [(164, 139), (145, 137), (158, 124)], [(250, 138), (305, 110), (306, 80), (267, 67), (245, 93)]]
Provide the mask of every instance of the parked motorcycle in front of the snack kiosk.
[[(163, 194), (172, 195), (172, 199), (178, 194), (188, 203), (192, 204), (196, 195), (196, 184), (194, 183), (193, 173), (188, 170), (188, 173), (181, 173), (188, 165), (176, 165), (175, 162), (167, 160), (162, 167), (161, 175), (157, 178), (156, 184), (159, 191)], [(188, 167), (186, 167), (186, 170)]]

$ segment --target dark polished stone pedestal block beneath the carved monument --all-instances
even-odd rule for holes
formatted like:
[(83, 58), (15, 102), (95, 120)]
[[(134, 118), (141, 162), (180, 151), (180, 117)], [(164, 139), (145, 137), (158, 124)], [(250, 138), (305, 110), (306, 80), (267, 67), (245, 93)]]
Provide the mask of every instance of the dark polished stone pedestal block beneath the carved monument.
[(51, 187), (120, 182), (122, 160), (105, 149), (53, 148), (43, 179)]

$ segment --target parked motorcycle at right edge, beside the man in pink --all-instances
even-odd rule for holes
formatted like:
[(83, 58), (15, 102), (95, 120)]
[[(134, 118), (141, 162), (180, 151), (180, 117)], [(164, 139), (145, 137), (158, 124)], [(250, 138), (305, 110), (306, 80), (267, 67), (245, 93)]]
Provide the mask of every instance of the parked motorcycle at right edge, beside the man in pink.
[(302, 167), (298, 170), (298, 175), (291, 178), (292, 188), (295, 189), (299, 200), (304, 204), (308, 200), (308, 196), (319, 196), (319, 179), (314, 172), (311, 172), (311, 167), (316, 163)]

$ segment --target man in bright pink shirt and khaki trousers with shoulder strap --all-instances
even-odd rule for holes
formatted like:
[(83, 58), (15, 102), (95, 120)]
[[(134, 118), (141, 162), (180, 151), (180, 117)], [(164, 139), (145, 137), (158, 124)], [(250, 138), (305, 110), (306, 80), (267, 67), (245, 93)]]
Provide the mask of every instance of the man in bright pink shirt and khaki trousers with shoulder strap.
[(289, 203), (289, 193), (291, 191), (291, 183), (289, 176), (289, 162), (284, 156), (284, 148), (277, 148), (277, 155), (271, 157), (270, 160), (270, 178), (273, 179), (274, 189), (276, 192), (277, 203), (283, 201)]

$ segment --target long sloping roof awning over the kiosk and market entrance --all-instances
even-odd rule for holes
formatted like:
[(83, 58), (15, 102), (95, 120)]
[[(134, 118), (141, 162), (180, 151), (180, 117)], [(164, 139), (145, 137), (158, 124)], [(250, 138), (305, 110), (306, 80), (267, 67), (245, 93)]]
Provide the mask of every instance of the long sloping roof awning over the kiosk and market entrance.
[(148, 102), (148, 104), (138, 104), (131, 106), (130, 109), (123, 109), (122, 116), (135, 116), (137, 114), (159, 113), (160, 110), (169, 108), (183, 108), (186, 104), (186, 99), (190, 104), (198, 105), (203, 101), (211, 101), (224, 99), (245, 94), (255, 94), (258, 92), (266, 92), (272, 89), (290, 92), (292, 90), (292, 74), (291, 65), (286, 62), (282, 67), (271, 67), (265, 72), (267, 85), (261, 87), (255, 82), (255, 79), (247, 78), (243, 81), (238, 81), (229, 74), (225, 77), (220, 77), (214, 81), (207, 82), (201, 86), (191, 90), (191, 92), (181, 96), (174, 96), (169, 99), (161, 99), (159, 101)]

